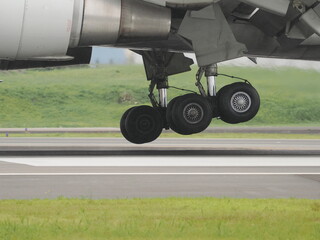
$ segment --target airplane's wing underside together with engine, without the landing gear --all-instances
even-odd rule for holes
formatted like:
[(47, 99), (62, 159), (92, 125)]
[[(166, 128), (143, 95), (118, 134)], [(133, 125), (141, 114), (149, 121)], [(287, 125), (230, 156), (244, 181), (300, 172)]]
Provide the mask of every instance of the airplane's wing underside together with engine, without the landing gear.
[(195, 52), (200, 66), (320, 59), (318, 0), (2, 0), (0, 11), (1, 69), (88, 63), (95, 45)]

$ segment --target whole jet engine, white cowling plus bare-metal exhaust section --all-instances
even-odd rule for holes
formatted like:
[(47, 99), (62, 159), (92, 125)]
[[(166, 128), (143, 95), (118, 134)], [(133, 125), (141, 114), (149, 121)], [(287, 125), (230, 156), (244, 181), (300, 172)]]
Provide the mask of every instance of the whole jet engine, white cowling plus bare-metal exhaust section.
[(171, 10), (142, 0), (1, 0), (0, 59), (66, 61), (69, 48), (167, 39)]

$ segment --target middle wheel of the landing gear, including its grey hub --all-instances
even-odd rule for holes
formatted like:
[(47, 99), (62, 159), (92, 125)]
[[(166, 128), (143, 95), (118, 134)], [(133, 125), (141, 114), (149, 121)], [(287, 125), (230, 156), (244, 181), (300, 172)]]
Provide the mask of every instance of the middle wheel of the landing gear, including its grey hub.
[(213, 111), (209, 101), (197, 94), (178, 98), (173, 105), (172, 121), (185, 134), (200, 133), (208, 128)]

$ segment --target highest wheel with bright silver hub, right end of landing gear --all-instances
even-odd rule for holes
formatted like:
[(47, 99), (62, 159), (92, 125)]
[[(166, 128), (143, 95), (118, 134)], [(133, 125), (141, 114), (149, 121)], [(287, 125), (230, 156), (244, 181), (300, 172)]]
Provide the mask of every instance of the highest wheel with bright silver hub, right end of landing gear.
[(218, 93), (221, 120), (237, 124), (250, 121), (260, 108), (260, 97), (254, 87), (247, 83), (233, 83)]

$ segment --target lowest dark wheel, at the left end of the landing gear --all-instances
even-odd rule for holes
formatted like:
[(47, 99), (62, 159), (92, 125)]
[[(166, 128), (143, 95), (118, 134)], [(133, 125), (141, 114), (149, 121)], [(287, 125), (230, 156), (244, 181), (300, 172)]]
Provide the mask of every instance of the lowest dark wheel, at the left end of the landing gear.
[(150, 106), (135, 107), (125, 119), (127, 140), (135, 144), (156, 140), (163, 129), (161, 114)]

